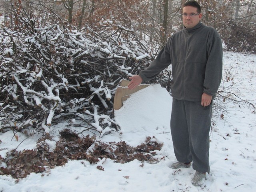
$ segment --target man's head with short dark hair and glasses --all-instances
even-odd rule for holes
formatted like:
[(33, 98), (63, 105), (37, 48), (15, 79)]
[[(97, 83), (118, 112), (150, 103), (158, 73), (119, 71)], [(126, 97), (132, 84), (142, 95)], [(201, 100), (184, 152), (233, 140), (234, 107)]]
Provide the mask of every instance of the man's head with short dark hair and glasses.
[(202, 18), (201, 7), (198, 2), (189, 0), (183, 5), (182, 19), (186, 28), (196, 26)]

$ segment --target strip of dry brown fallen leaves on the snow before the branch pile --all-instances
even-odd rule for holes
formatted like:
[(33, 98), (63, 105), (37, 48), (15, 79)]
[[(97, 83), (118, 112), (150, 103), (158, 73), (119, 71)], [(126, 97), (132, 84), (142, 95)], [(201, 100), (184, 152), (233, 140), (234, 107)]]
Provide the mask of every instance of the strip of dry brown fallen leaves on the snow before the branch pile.
[[(154, 138), (154, 137), (153, 137)], [(30, 173), (46, 172), (55, 166), (63, 166), (68, 160), (87, 160), (90, 164), (96, 164), (103, 158), (109, 158), (117, 163), (127, 163), (132, 160), (157, 163), (154, 158), (156, 150), (160, 150), (163, 144), (153, 141), (147, 137), (145, 142), (132, 147), (126, 142), (101, 142), (95, 141), (95, 137), (87, 135), (80, 138), (76, 133), (68, 129), (60, 132), (60, 140), (56, 143), (54, 151), (45, 140), (50, 140), (50, 136), (45, 136), (38, 141), (38, 146), (33, 150), (16, 151), (7, 154), (6, 158), (0, 156), (0, 162), (4, 162), (6, 167), (0, 168), (0, 174), (11, 175), (13, 178), (25, 178)], [(92, 150), (88, 150), (93, 146)], [(97, 166), (99, 170), (104, 168)]]

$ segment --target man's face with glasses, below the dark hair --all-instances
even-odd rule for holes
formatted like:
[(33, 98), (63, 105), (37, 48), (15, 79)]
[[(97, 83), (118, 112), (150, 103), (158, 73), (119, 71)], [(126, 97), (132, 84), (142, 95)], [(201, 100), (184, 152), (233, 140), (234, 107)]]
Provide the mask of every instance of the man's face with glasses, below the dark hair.
[[(192, 6), (186, 6), (183, 8), (183, 14), (187, 16), (182, 16), (183, 24), (186, 28), (192, 28), (196, 26), (202, 18), (202, 13), (198, 14), (197, 9)], [(192, 16), (191, 14), (198, 14)]]

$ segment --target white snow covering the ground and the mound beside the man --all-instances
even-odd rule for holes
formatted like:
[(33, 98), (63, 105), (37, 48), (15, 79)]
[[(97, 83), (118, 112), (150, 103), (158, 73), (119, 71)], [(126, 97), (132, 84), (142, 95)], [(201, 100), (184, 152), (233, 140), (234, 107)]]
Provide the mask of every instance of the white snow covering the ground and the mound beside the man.
[[(233, 86), (240, 90), (244, 100), (255, 103), (256, 55), (224, 52), (223, 74), (230, 76), (221, 86)], [(232, 79), (234, 78), (234, 79)], [(232, 79), (232, 80), (231, 80)], [(220, 87), (221, 89), (221, 87)], [(11, 176), (0, 175), (0, 191), (9, 192), (254, 192), (256, 191), (256, 114), (252, 107), (226, 103), (227, 116), (213, 117), (216, 123), (210, 132), (210, 167), (204, 185), (191, 184), (192, 168), (172, 170), (168, 166), (176, 162), (170, 136), (172, 98), (159, 84), (150, 85), (130, 96), (120, 110), (115, 111), (115, 120), (120, 132), (112, 132), (99, 138), (102, 142), (125, 141), (131, 146), (144, 142), (146, 136), (155, 136), (163, 143), (155, 158), (160, 162), (149, 164), (138, 160), (119, 164), (102, 159), (91, 165), (85, 160), (69, 160), (64, 166), (44, 173), (32, 173), (16, 182)], [(65, 122), (52, 125), (48, 132), (53, 139), (47, 142), (52, 148), (58, 141), (58, 133)], [(6, 152), (33, 149), (40, 135), (26, 138), (19, 134), (16, 141), (13, 133), (0, 133), (0, 155)], [(22, 142), (23, 141), (23, 142)], [(5, 166), (4, 164), (0, 166)], [(102, 166), (104, 171), (96, 167)]]

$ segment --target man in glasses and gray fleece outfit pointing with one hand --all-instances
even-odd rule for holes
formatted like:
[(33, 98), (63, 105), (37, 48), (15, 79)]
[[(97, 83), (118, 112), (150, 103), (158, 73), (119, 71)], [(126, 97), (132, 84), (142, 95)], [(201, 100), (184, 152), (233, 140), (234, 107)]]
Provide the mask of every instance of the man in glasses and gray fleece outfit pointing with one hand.
[(200, 22), (201, 7), (189, 0), (183, 6), (184, 29), (173, 34), (150, 66), (130, 77), (129, 89), (156, 77), (172, 64), (171, 134), (178, 162), (171, 168), (192, 167), (195, 186), (209, 166), (212, 100), (222, 79), (222, 42), (214, 28)]

